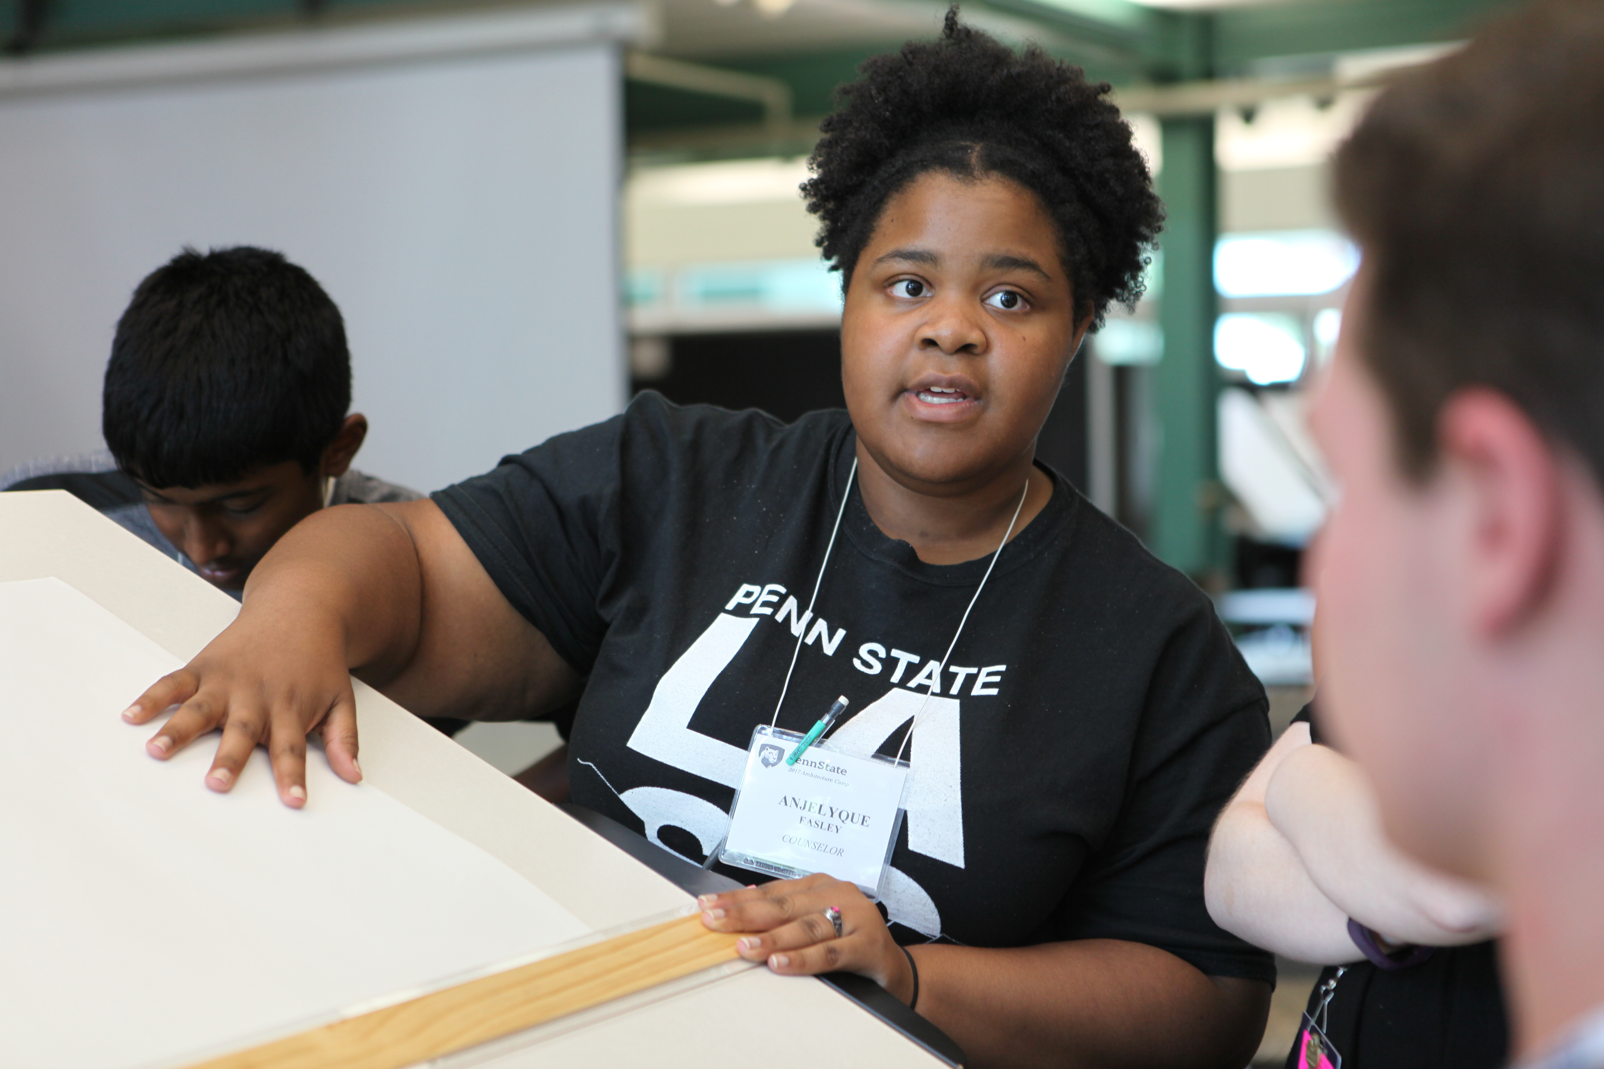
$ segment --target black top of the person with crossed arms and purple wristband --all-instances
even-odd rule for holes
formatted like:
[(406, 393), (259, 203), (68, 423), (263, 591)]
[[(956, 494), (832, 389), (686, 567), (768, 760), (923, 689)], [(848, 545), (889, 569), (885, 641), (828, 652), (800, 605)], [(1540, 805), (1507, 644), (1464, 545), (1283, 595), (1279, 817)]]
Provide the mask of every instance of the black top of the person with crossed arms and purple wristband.
[[(1320, 737), (1314, 704), (1293, 723), (1307, 723)], [(1336, 976), (1328, 966), (1309, 995), (1318, 1010), (1320, 987)], [(1493, 941), (1437, 947), (1420, 965), (1402, 970), (1355, 962), (1336, 981), (1327, 1006), (1327, 1039), (1344, 1069), (1500, 1069), (1509, 1051), (1498, 952)], [(1304, 1069), (1298, 1045), (1286, 1069)]]

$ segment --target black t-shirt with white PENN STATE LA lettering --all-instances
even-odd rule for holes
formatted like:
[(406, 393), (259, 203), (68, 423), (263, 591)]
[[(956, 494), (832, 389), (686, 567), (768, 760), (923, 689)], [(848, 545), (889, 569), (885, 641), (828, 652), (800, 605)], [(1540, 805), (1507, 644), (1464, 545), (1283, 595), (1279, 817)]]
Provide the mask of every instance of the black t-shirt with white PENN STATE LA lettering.
[[(642, 394), (435, 500), (507, 599), (589, 676), (579, 805), (701, 861), (752, 728), (893, 753), (986, 571), (919, 561), (853, 486), (845, 412), (794, 425)], [(1054, 478), (929, 699), (882, 907), (903, 939), (1113, 938), (1274, 979), (1203, 906), (1209, 825), (1269, 745), (1266, 699), (1213, 606)], [(751, 873), (735, 875), (751, 880)], [(913, 931), (906, 931), (913, 930)]]

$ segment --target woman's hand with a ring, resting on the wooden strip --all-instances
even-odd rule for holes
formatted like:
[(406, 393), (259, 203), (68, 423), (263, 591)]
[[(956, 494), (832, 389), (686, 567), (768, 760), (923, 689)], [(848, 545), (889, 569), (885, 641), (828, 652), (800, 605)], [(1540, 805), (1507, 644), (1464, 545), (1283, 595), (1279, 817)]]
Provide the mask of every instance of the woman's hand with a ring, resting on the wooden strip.
[[(897, 998), (913, 998), (913, 970), (892, 939), (881, 910), (857, 886), (813, 873), (764, 886), (703, 894), (703, 923), (746, 934), (738, 944), (747, 962), (768, 962), (786, 976), (837, 970), (868, 976)], [(824, 910), (840, 910), (840, 936)]]

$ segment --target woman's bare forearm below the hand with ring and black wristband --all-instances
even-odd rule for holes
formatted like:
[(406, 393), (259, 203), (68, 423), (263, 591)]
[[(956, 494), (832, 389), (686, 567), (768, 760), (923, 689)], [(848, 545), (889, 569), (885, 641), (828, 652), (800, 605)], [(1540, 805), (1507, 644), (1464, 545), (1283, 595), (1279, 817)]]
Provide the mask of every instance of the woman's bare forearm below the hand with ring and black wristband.
[(911, 952), (917, 1011), (982, 1067), (1243, 1066), (1269, 1010), (1269, 984), (1205, 976), (1140, 942)]

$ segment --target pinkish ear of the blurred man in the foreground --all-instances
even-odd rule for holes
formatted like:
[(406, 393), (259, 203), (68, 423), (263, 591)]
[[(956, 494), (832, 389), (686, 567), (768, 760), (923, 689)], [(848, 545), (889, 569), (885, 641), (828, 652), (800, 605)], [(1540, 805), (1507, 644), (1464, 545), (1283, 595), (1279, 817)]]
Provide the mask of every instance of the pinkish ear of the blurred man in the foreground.
[(1442, 473), (1464, 524), (1464, 604), (1471, 627), (1497, 636), (1543, 604), (1564, 550), (1559, 457), (1505, 394), (1461, 389), (1437, 420)]

